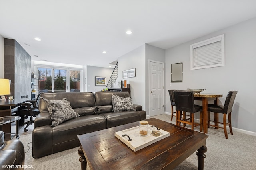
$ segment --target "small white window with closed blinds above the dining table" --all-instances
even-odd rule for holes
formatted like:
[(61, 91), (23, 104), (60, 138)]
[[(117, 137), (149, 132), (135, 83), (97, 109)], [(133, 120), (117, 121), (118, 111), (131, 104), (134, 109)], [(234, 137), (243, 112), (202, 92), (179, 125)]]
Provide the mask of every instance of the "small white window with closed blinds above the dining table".
[(224, 66), (224, 34), (190, 45), (190, 69)]

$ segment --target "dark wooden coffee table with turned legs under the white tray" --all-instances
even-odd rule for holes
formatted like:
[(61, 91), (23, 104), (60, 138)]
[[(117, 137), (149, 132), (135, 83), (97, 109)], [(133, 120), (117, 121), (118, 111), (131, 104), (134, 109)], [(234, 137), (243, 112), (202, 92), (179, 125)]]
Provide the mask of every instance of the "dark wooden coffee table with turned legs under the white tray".
[(139, 122), (78, 135), (81, 169), (86, 170), (88, 163), (91, 170), (170, 170), (196, 150), (198, 169), (204, 169), (207, 135), (155, 118), (147, 121), (170, 132), (170, 136), (136, 152), (116, 138), (114, 133), (136, 127)]

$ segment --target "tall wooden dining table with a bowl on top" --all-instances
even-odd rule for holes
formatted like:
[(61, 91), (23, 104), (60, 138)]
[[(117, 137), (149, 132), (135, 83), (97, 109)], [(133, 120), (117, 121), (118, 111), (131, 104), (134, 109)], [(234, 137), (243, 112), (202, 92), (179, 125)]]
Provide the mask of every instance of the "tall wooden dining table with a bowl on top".
[(194, 94), (194, 100), (202, 100), (203, 102), (203, 128), (204, 133), (208, 133), (208, 100), (214, 100), (214, 104), (218, 104), (218, 98), (222, 97), (222, 94), (200, 93)]

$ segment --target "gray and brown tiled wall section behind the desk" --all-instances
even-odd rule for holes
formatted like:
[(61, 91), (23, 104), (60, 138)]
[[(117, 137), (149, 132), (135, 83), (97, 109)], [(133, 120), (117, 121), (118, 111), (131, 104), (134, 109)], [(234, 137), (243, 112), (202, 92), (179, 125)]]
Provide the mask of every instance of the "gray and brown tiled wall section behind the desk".
[(14, 39), (4, 39), (4, 78), (14, 98), (31, 98), (31, 56)]

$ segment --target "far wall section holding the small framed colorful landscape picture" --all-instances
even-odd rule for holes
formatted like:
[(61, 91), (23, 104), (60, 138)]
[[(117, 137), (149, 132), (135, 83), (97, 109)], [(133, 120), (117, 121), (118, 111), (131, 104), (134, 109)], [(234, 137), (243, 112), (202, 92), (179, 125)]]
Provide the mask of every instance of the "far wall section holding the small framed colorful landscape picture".
[(108, 80), (110, 79), (113, 70), (114, 68), (87, 66), (86, 92), (98, 92), (101, 91), (103, 88), (106, 88), (106, 86), (95, 86), (95, 77), (106, 77), (106, 84), (108, 84)]

